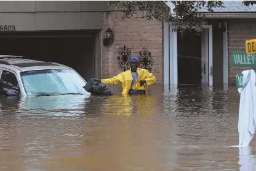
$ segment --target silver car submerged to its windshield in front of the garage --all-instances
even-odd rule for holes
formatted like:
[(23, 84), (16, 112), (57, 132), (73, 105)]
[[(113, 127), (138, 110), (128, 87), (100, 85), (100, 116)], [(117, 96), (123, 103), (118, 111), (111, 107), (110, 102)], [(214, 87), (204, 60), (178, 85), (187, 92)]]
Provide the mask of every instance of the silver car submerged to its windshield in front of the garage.
[(71, 67), (23, 56), (0, 55), (0, 94), (7, 96), (56, 96), (90, 94), (81, 75)]

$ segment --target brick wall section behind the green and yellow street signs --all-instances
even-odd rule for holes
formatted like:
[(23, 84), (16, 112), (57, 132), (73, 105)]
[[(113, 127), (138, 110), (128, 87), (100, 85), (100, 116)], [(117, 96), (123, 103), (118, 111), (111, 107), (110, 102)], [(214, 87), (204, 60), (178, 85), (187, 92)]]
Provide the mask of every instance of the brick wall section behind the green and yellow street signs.
[(247, 39), (256, 39), (256, 20), (236, 19), (228, 21), (228, 80), (230, 85), (236, 83), (236, 74), (241, 73), (242, 70), (256, 70), (256, 67), (231, 66), (231, 52), (246, 51)]

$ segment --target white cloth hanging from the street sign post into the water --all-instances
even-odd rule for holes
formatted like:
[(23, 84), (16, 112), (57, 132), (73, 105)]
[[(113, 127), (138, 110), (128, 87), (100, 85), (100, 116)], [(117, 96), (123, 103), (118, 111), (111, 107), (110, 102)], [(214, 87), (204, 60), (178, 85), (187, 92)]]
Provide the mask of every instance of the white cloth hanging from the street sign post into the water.
[(239, 89), (240, 104), (239, 104), (239, 146), (249, 146), (255, 132), (256, 120), (256, 84), (254, 70), (244, 70), (243, 87)]

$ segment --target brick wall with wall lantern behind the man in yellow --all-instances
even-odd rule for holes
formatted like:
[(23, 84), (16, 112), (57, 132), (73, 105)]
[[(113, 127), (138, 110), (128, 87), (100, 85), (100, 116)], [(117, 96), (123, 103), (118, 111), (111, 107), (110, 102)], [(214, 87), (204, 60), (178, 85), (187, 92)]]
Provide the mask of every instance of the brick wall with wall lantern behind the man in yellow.
[(154, 60), (151, 72), (158, 83), (162, 82), (162, 22), (146, 21), (142, 16), (143, 12), (138, 12), (133, 18), (122, 21), (122, 12), (103, 14), (101, 40), (103, 41), (105, 31), (110, 26), (114, 42), (109, 47), (105, 47), (102, 42), (102, 78), (113, 77), (123, 71), (118, 68), (118, 48), (126, 45), (131, 48), (132, 56), (138, 56), (143, 47), (151, 52)]

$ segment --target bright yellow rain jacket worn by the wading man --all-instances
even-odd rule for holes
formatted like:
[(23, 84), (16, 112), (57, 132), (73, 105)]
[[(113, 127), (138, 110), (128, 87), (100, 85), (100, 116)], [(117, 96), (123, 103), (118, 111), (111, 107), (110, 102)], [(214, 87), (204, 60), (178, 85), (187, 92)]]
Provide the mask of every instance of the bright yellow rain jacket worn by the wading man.
[[(137, 69), (138, 73), (138, 80), (132, 86), (135, 90), (142, 90), (145, 89), (146, 93), (148, 93), (148, 86), (153, 85), (156, 82), (156, 77), (154, 74), (148, 72), (146, 69)], [(102, 83), (106, 85), (116, 85), (122, 83), (122, 95), (127, 95), (129, 93), (130, 85), (132, 85), (132, 72), (131, 70), (126, 70), (125, 72), (121, 72), (120, 74), (116, 75), (115, 77), (102, 79)], [(140, 86), (140, 81), (146, 80), (146, 85)]]

